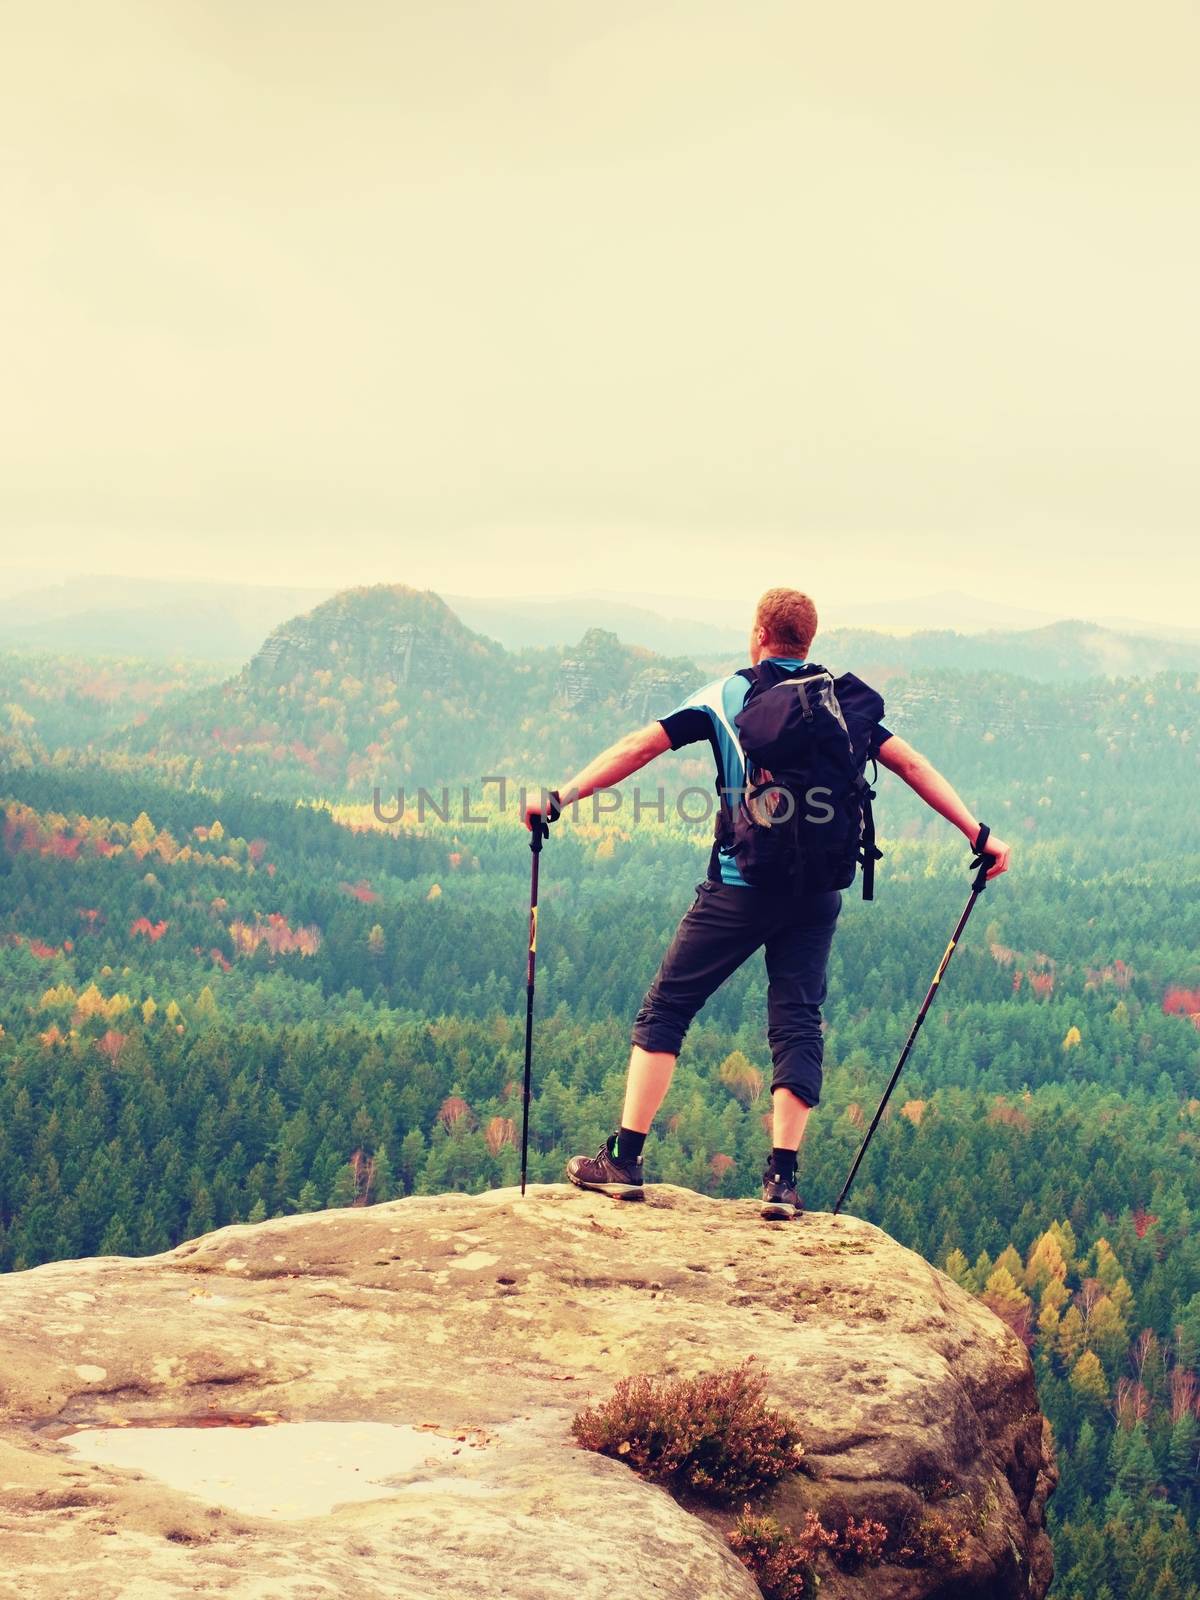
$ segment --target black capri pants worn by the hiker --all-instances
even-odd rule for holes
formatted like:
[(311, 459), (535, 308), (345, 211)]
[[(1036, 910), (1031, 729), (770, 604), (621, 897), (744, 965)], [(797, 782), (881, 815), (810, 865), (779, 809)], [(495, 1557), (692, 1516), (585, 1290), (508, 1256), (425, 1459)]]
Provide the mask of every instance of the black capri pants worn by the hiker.
[(696, 899), (670, 941), (638, 1008), (632, 1042), (678, 1054), (691, 1019), (725, 979), (763, 946), (771, 1090), (821, 1099), (821, 1006), (842, 891), (781, 894), (739, 883), (696, 885)]

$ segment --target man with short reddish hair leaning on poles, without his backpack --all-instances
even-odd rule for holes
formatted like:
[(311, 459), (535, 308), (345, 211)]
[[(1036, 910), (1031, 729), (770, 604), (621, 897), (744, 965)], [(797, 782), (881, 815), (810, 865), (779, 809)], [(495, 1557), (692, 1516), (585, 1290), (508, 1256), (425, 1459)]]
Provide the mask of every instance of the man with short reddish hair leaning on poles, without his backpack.
[[(750, 627), (750, 662), (771, 661), (786, 670), (803, 667), (814, 634), (816, 608), (808, 595), (797, 589), (768, 589)], [(734, 717), (749, 690), (749, 682), (738, 674), (706, 683), (667, 717), (610, 746), (560, 789), (552, 789), (547, 802), (526, 805), (525, 826), (530, 827), (533, 816), (554, 821), (563, 806), (619, 784), (664, 750), (677, 750), (698, 739), (712, 744), (718, 787), (736, 795), (746, 786), (746, 757)], [(902, 778), (974, 845), (978, 818), (910, 744), (883, 723), (874, 723), (869, 755)], [(986, 850), (995, 858), (987, 872), (994, 878), (1008, 869), (1010, 846), (992, 834)], [(707, 878), (696, 886), (696, 899), (680, 922), (634, 1022), (621, 1126), (597, 1155), (571, 1157), (566, 1176), (573, 1184), (621, 1198), (642, 1197), (642, 1146), (670, 1085), (683, 1035), (704, 1002), (763, 947), (766, 1037), (773, 1061), (773, 1149), (763, 1168), (762, 1214), (792, 1218), (802, 1210), (795, 1187), (797, 1152), (808, 1114), (821, 1096), (821, 1006), (840, 909), (840, 890), (789, 894), (747, 885), (733, 856), (720, 851), (714, 840)]]

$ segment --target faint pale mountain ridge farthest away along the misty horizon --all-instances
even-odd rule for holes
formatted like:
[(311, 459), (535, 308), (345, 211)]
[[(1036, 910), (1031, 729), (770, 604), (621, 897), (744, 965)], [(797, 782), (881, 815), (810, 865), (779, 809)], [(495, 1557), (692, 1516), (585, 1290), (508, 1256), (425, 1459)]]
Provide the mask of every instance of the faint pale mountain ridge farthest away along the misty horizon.
[[(386, 584), (371, 587), (392, 587)], [(235, 662), (336, 594), (358, 590), (88, 576), (0, 595), (0, 645), (94, 654)], [(736, 608), (618, 592), (486, 598), (445, 594), (474, 634), (509, 651), (570, 650), (590, 629), (706, 670), (741, 664), (749, 629)], [(818, 654), (858, 662), (864, 675), (957, 666), (1014, 666), (1027, 677), (1146, 675), (1200, 669), (1200, 632), (1128, 619), (1056, 619), (946, 590), (918, 600), (822, 608)]]

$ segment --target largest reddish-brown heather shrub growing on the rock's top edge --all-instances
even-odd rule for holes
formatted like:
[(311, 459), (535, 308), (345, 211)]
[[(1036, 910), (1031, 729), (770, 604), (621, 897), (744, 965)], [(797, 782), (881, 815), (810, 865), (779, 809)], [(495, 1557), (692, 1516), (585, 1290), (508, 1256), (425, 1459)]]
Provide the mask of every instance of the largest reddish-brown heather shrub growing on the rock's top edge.
[(803, 1446), (790, 1419), (763, 1403), (752, 1360), (702, 1378), (624, 1378), (603, 1405), (576, 1413), (571, 1432), (670, 1490), (754, 1493), (792, 1472)]

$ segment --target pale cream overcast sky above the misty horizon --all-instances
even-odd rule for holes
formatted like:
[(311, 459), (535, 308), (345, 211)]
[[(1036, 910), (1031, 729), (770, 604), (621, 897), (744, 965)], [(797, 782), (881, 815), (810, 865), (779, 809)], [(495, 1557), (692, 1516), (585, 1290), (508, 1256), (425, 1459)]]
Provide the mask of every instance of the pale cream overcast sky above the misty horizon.
[(3, 558), (1195, 624), (1194, 0), (0, 0)]

